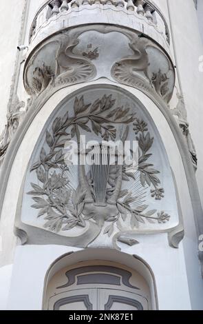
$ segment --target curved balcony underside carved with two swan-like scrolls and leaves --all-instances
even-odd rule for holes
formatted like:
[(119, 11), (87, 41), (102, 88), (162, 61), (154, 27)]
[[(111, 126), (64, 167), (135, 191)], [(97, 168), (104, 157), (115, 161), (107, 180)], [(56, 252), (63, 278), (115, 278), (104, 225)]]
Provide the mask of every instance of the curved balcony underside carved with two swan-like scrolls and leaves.
[(56, 34), (30, 53), (24, 71), (32, 96), (100, 77), (140, 88), (166, 103), (175, 84), (173, 64), (159, 45), (116, 26), (82, 26)]

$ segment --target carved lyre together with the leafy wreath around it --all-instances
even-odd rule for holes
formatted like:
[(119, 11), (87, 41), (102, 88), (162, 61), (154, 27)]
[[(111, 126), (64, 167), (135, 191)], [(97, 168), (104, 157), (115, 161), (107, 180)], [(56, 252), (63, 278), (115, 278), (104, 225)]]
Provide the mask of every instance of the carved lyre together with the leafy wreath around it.
[[(86, 230), (94, 225), (98, 227), (97, 236), (111, 237), (115, 232), (141, 228), (146, 222), (153, 226), (169, 221), (167, 212), (149, 207), (147, 192), (152, 200), (160, 201), (164, 189), (160, 171), (151, 162), (153, 136), (147, 122), (137, 115), (127, 105), (118, 107), (112, 94), (104, 94), (92, 103), (84, 96), (75, 97), (73, 114), (67, 111), (54, 119), (51, 129), (46, 131), (39, 159), (30, 168), (37, 180), (30, 184), (32, 190), (28, 192), (34, 201), (32, 208), (38, 210), (37, 217), (43, 218), (45, 230), (68, 235), (73, 229)], [(116, 162), (109, 163), (109, 143), (118, 139), (125, 143), (130, 133), (131, 140), (138, 141), (135, 172), (133, 162), (118, 163), (118, 152)], [(83, 152), (94, 162), (84, 165), (79, 157), (78, 165), (65, 163), (65, 145), (76, 139), (79, 153), (81, 134), (98, 139), (98, 145)]]

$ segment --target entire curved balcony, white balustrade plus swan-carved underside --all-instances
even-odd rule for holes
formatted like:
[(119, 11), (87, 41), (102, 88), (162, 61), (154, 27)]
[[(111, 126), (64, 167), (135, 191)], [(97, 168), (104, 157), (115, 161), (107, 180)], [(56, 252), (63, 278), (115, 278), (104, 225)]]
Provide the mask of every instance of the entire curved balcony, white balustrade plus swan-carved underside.
[(47, 1), (32, 23), (23, 77), (34, 96), (105, 77), (169, 103), (167, 23), (148, 0)]

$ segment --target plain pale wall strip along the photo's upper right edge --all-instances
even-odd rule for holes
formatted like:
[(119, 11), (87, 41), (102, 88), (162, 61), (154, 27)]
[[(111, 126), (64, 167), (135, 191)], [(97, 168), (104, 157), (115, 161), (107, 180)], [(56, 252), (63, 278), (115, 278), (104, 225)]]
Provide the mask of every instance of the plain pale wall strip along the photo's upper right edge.
[(188, 112), (191, 135), (197, 150), (198, 170), (196, 175), (203, 203), (203, 72), (199, 70), (199, 58), (203, 55), (203, 44), (193, 1), (169, 0), (169, 8), (177, 55), (176, 65), (180, 71), (180, 81)]

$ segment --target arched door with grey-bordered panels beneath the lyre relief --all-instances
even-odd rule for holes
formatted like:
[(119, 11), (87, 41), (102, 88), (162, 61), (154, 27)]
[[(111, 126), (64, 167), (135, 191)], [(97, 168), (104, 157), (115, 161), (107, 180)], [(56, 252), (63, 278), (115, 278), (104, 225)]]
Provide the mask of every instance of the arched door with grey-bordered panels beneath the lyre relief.
[(151, 296), (154, 287), (149, 287), (148, 279), (136, 269), (111, 261), (67, 265), (49, 276), (43, 309), (152, 310), (156, 297)]

